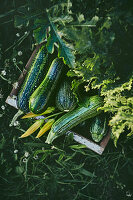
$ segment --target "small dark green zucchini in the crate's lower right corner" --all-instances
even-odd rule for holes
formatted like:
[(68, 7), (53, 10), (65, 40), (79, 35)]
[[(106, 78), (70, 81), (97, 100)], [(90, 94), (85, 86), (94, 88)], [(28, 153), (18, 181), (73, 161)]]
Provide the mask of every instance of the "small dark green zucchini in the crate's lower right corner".
[(90, 126), (91, 137), (95, 142), (100, 142), (107, 133), (107, 118), (102, 114), (96, 116)]

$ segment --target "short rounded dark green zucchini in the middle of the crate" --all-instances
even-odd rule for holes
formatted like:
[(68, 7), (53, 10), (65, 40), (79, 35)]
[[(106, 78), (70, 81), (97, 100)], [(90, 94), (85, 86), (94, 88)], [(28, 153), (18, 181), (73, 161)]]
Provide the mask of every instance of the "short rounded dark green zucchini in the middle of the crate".
[(72, 93), (71, 84), (69, 80), (65, 79), (56, 95), (56, 106), (60, 111), (71, 111), (77, 105), (77, 100)]

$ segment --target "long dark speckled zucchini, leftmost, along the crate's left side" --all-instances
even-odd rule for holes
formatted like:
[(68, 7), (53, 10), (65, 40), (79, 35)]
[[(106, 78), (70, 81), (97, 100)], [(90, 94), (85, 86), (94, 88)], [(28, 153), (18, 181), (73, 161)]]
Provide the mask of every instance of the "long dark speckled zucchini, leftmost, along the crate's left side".
[(17, 96), (17, 106), (23, 112), (29, 112), (29, 98), (36, 87), (39, 86), (45, 76), (48, 53), (46, 47), (42, 45), (37, 52), (34, 61), (30, 65), (25, 81), (21, 86)]

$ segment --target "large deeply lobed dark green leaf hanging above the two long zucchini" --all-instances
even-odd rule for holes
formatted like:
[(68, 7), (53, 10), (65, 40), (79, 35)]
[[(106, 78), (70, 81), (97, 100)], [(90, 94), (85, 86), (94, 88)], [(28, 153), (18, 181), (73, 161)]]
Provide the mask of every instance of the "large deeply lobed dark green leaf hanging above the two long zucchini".
[(49, 53), (54, 52), (54, 46), (58, 47), (58, 57), (63, 58), (64, 63), (69, 67), (75, 67), (75, 56), (73, 53), (73, 47), (66, 43), (60, 35), (59, 30), (56, 28), (53, 23), (53, 19), (49, 16), (49, 11), (47, 10), (47, 16), (45, 19), (40, 18), (36, 19), (34, 22), (34, 26), (37, 27), (34, 30), (34, 38), (38, 44), (44, 41), (47, 37), (47, 33), (49, 37), (47, 38), (47, 49)]

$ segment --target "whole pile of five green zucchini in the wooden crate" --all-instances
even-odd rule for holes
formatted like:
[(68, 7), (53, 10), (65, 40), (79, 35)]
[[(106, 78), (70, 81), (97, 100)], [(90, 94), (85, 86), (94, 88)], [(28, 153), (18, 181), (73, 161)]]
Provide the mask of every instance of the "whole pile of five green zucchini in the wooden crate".
[(42, 115), (51, 102), (55, 103), (55, 110), (61, 111), (61, 116), (58, 113), (51, 115), (55, 118), (49, 126), (46, 143), (52, 143), (57, 137), (90, 118), (92, 123), (88, 133), (95, 142), (100, 142), (107, 132), (107, 119), (98, 110), (103, 105), (103, 99), (93, 95), (79, 105), (71, 90), (71, 81), (64, 74), (66, 67), (61, 58), (50, 62), (46, 46), (42, 45), (18, 93), (17, 106), (23, 113), (30, 112), (37, 116)]

